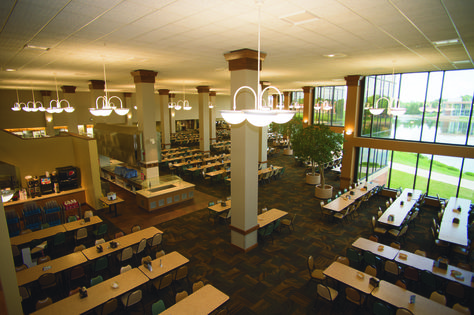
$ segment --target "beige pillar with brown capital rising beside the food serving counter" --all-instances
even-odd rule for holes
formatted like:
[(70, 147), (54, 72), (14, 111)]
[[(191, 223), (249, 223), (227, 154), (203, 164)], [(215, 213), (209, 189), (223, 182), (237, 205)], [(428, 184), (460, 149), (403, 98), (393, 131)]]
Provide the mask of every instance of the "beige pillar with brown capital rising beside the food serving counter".
[(160, 176), (158, 169), (158, 141), (156, 138), (156, 106), (154, 85), (158, 73), (151, 70), (131, 72), (135, 83), (138, 130), (142, 133), (143, 154), (141, 167), (146, 179)]

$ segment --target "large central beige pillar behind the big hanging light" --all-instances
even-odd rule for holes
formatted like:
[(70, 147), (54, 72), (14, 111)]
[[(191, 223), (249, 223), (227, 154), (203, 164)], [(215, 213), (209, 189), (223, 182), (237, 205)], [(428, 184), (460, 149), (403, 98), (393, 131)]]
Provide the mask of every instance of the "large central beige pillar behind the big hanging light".
[[(260, 54), (260, 59), (265, 59), (265, 56), (266, 54)], [(231, 95), (243, 85), (257, 91), (257, 71), (260, 71), (258, 52), (241, 49), (225, 54), (225, 58), (231, 71)], [(255, 108), (255, 99), (251, 92), (239, 93), (236, 102), (238, 110)], [(230, 105), (229, 109), (233, 104)], [(259, 128), (247, 121), (231, 127), (231, 243), (245, 252), (258, 246), (258, 139)]]

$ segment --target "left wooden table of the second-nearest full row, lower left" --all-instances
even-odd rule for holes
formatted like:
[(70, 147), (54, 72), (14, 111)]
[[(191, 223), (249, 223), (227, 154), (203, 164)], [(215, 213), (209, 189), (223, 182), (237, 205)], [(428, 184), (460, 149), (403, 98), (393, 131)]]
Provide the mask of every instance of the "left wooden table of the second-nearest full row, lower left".
[(16, 280), (18, 286), (22, 286), (38, 280), (45, 273), (57, 274), (64, 270), (79, 266), (87, 261), (82, 252), (75, 252), (66, 256), (62, 256), (48, 262), (32, 266), (28, 269), (18, 271)]

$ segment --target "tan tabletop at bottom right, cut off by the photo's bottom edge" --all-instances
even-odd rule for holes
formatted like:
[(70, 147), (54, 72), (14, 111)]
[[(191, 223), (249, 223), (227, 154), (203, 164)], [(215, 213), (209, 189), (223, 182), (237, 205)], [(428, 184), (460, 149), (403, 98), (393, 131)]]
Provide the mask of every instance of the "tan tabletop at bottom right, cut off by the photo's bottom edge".
[[(385, 301), (397, 308), (404, 307), (410, 310), (413, 314), (427, 314), (427, 315), (448, 315), (459, 314), (450, 307), (444, 306), (433, 300), (427, 299), (424, 296), (415, 294), (411, 291), (405, 290), (391, 284), (387, 281), (380, 281), (379, 286), (375, 288), (372, 293), (374, 297)], [(410, 297), (415, 296), (415, 303), (410, 304)]]

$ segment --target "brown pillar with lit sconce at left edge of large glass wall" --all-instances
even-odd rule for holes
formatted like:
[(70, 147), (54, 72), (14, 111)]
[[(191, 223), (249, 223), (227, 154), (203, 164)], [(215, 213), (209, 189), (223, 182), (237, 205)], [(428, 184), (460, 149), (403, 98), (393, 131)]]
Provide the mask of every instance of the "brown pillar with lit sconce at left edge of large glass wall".
[(341, 188), (347, 188), (354, 182), (357, 147), (354, 146), (355, 133), (359, 130), (361, 81), (363, 76), (350, 75), (345, 77), (347, 85), (346, 118), (344, 123), (344, 154), (341, 167)]

